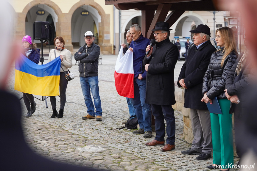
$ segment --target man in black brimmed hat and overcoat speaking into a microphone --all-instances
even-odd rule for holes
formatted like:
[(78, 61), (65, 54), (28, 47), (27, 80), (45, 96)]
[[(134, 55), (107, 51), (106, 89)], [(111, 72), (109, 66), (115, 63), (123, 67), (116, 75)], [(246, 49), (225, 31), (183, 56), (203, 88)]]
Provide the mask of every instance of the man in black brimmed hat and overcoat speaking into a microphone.
[[(175, 148), (175, 117), (171, 105), (175, 104), (174, 68), (179, 51), (176, 45), (170, 42), (169, 23), (158, 22), (155, 25), (155, 46), (146, 51), (143, 65), (147, 71), (146, 103), (151, 104), (152, 114), (155, 116), (156, 137), (147, 146), (164, 145), (166, 120), (166, 145), (161, 151), (171, 151)], [(152, 41), (151, 41), (152, 42)], [(164, 117), (163, 117), (164, 115)]]

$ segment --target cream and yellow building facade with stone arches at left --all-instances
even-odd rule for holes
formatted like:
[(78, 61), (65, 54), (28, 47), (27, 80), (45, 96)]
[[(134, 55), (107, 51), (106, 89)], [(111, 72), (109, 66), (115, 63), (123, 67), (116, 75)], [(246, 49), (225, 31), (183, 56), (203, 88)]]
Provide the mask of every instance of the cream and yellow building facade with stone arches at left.
[[(70, 51), (73, 46), (83, 46), (83, 35), (92, 31), (101, 54), (113, 54), (113, 5), (105, 5), (103, 0), (13, 0), (10, 5), (14, 14), (13, 36), (17, 40), (24, 35), (33, 36), (35, 21), (48, 21), (53, 37), (62, 36)], [(43, 10), (44, 15), (36, 14), (38, 10)], [(82, 11), (88, 15), (82, 16)]]

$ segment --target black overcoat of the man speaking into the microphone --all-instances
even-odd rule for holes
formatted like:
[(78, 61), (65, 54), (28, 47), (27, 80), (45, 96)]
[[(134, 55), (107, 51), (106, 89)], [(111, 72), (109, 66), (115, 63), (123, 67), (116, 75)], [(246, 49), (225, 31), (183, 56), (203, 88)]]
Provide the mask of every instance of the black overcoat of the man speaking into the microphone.
[(165, 39), (153, 47), (149, 59), (144, 58), (143, 65), (150, 64), (147, 72), (147, 87), (145, 103), (157, 105), (173, 105), (174, 68), (179, 51), (169, 39)]

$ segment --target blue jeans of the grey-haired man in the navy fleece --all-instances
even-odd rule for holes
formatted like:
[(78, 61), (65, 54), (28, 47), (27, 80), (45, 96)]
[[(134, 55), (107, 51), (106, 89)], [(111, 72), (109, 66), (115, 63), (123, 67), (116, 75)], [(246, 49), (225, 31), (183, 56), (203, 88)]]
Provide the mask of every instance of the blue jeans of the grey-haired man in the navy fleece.
[(151, 131), (152, 113), (150, 105), (145, 103), (146, 79), (134, 78), (133, 107), (138, 119), (139, 128)]

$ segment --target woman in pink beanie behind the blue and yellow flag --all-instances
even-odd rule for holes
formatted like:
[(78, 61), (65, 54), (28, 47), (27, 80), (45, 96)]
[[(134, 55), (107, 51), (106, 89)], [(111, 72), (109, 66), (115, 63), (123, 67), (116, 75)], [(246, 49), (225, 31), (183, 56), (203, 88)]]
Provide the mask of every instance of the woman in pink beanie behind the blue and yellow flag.
[[(27, 57), (32, 62), (35, 62), (36, 64), (38, 64), (40, 49), (37, 48), (37, 45), (35, 43), (32, 43), (30, 36), (27, 35), (23, 37), (22, 48), (23, 48), (22, 54), (24, 54), (24, 56)], [(28, 110), (26, 117), (30, 117), (32, 116), (32, 113), (35, 112), (37, 104), (35, 103), (34, 96), (32, 94), (28, 94), (24, 92), (22, 94), (23, 94), (23, 100), (24, 100), (25, 106)], [(31, 104), (31, 108), (30, 108), (30, 104)]]

